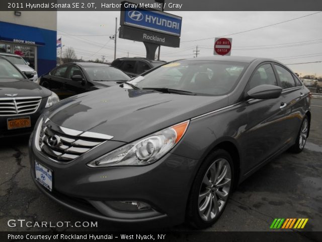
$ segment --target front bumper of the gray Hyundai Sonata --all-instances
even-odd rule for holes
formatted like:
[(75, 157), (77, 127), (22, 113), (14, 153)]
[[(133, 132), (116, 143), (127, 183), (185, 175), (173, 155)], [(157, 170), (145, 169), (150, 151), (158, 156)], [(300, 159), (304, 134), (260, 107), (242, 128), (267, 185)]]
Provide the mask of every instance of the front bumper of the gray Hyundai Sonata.
[[(56, 202), (85, 215), (113, 222), (179, 224), (185, 219), (197, 160), (168, 153), (147, 166), (90, 168), (86, 164), (124, 143), (108, 141), (74, 161), (56, 163), (39, 153), (30, 138), (31, 175), (37, 187)], [(53, 172), (53, 191), (35, 180), (35, 160)], [(108, 201), (140, 201), (152, 210), (121, 211)]]

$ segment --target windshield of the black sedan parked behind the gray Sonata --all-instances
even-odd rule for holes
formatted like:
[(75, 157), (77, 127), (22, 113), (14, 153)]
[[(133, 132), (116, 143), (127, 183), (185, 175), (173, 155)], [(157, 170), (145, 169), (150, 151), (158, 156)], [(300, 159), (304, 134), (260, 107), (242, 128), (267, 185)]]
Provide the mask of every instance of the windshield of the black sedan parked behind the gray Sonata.
[(128, 81), (130, 77), (114, 67), (84, 67), (92, 81)]

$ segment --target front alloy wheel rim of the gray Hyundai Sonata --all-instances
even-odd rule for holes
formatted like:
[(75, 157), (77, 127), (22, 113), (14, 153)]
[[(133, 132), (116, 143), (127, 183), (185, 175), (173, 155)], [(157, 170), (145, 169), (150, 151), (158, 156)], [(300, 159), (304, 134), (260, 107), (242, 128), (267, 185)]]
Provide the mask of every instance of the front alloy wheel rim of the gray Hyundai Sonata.
[(215, 160), (205, 173), (199, 190), (198, 211), (204, 221), (214, 219), (224, 207), (231, 186), (229, 162)]

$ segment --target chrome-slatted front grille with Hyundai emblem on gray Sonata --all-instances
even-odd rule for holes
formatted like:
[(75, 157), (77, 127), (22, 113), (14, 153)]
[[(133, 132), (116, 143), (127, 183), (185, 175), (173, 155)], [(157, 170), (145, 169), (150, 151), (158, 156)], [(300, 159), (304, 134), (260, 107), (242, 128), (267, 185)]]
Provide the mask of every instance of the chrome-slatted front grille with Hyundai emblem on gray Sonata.
[(72, 130), (50, 119), (41, 120), (36, 131), (36, 147), (54, 161), (68, 162), (94, 149), (113, 136)]

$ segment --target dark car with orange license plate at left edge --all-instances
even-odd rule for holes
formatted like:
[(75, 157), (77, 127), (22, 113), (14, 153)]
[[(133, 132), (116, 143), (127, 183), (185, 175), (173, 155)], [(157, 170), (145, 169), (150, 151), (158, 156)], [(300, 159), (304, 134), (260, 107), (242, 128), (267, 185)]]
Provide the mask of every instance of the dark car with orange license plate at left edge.
[(0, 138), (30, 134), (40, 114), (58, 101), (0, 56)]

